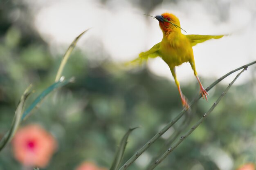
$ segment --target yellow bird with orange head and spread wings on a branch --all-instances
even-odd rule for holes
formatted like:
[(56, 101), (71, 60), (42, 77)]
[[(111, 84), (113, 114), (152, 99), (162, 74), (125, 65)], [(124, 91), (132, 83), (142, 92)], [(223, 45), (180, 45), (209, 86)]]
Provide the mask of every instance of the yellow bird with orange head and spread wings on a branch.
[(192, 47), (206, 40), (222, 38), (224, 35), (184, 35), (181, 32), (183, 29), (180, 27), (180, 20), (174, 14), (163, 13), (162, 15), (156, 15), (153, 18), (159, 21), (159, 26), (163, 32), (162, 41), (155, 44), (148, 51), (140, 53), (139, 57), (132, 62), (147, 60), (149, 57), (161, 57), (171, 70), (175, 84), (180, 93), (183, 107), (188, 109), (190, 106), (185, 95), (183, 95), (181, 91), (180, 82), (177, 79), (175, 67), (180, 66), (184, 62), (189, 62), (194, 75), (198, 80), (200, 94), (202, 95), (202, 98), (205, 98), (207, 101), (207, 95), (209, 96), (209, 94), (202, 86), (198, 73), (195, 69), (195, 60)]

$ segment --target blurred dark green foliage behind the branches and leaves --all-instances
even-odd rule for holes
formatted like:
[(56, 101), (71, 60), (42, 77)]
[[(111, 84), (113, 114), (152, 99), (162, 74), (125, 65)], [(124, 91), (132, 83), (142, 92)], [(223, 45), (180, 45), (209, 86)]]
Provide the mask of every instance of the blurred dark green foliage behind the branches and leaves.
[[(18, 19), (13, 17), (17, 10)], [(36, 89), (29, 105), (54, 82), (61, 62), (62, 56), (50, 52), (29, 18), (21, 2), (0, 1), (0, 137), (9, 130), (25, 88), (32, 83)], [(129, 137), (126, 161), (182, 109), (175, 84), (147, 68), (126, 71), (108, 60), (97, 67), (90, 62), (86, 54), (75, 49), (63, 75), (75, 76), (76, 81), (49, 95), (22, 122), (41, 124), (56, 137), (58, 150), (47, 170), (73, 170), (85, 160), (109, 168), (126, 130), (141, 125)], [(248, 69), (255, 70), (255, 66)], [(203, 84), (213, 81), (203, 79)], [(234, 169), (256, 162), (255, 82), (252, 75), (251, 81), (233, 86), (209, 118), (156, 169), (225, 169), (223, 165)], [(200, 100), (192, 108), (190, 124), (184, 131), (210, 108), (225, 87), (216, 86), (209, 93), (208, 103)], [(198, 95), (199, 86), (195, 80), (183, 84), (182, 90), (191, 101)], [(129, 169), (144, 169), (182, 122), (178, 121)], [(13, 158), (11, 145), (0, 153), (0, 170), (6, 169), (22, 169)]]

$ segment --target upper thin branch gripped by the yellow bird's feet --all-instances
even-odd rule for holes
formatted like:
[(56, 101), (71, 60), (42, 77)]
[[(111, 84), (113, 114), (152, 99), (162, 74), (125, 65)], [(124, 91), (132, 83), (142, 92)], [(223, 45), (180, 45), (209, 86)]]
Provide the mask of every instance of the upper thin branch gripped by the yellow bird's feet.
[[(211, 88), (213, 88), (213, 86), (215, 86), (216, 84), (218, 84), (222, 79), (225, 79), (227, 76), (231, 75), (232, 73), (241, 70), (243, 68), (247, 68), (248, 66), (255, 64), (256, 61), (251, 62), (249, 64), (246, 64), (244, 66), (241, 66), (239, 68), (236, 68), (233, 71), (230, 71), (229, 73), (225, 74), (224, 76), (220, 77), (218, 80), (216, 80), (215, 82), (213, 82), (210, 86), (208, 86), (206, 88), (206, 91), (211, 90)], [(198, 95), (197, 98), (195, 98), (191, 103), (190, 106), (193, 106), (193, 104), (195, 104), (196, 102), (198, 102), (198, 100), (201, 98), (201, 95)], [(159, 137), (161, 137), (164, 132), (166, 132), (169, 128), (171, 128), (173, 126), (173, 124), (176, 123), (176, 121), (178, 121), (180, 119), (180, 117), (182, 117), (182, 115), (184, 115), (186, 113), (187, 109), (183, 109), (171, 122), (169, 122), (162, 130), (160, 130), (153, 138), (151, 138), (146, 144), (144, 144), (144, 146), (142, 146), (139, 151), (137, 153), (135, 153), (121, 168), (119, 168), (119, 170), (126, 170), (143, 152), (145, 152), (145, 150), (147, 150)]]

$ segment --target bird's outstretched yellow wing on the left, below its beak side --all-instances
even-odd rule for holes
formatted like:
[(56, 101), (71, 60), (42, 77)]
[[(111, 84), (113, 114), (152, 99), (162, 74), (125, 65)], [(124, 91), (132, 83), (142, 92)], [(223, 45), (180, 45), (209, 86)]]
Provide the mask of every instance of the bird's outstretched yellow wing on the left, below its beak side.
[(132, 60), (130, 64), (142, 64), (144, 61), (148, 60), (148, 57), (150, 58), (158, 57), (159, 48), (160, 48), (160, 42), (155, 44), (150, 50), (140, 53), (139, 57), (136, 58), (135, 60)]

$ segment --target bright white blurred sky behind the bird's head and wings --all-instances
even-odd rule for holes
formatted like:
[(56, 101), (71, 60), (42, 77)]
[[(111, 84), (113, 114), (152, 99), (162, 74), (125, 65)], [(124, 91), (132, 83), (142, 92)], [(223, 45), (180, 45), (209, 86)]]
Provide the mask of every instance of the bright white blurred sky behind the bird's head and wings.
[[(162, 40), (157, 20), (133, 1), (108, 0), (25, 0), (34, 10), (34, 26), (53, 53), (65, 53), (74, 38), (85, 29), (88, 33), (77, 44), (87, 54), (106, 51), (117, 64), (138, 57)], [(145, 2), (146, 3), (146, 2)], [(218, 78), (227, 72), (256, 60), (255, 0), (164, 0), (149, 15), (175, 14), (186, 30), (184, 34), (222, 35), (193, 47), (199, 77)], [(102, 56), (101, 56), (102, 57)], [(99, 58), (98, 58), (99, 59)], [(92, 58), (93, 60), (93, 58)], [(149, 70), (173, 81), (161, 58), (148, 61)], [(251, 79), (252, 71), (241, 75), (236, 84)], [(181, 83), (196, 81), (189, 63), (176, 68)], [(235, 76), (235, 75), (234, 75)], [(229, 83), (234, 78), (225, 79)]]

